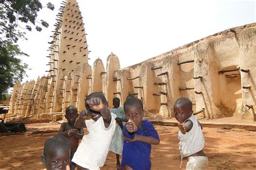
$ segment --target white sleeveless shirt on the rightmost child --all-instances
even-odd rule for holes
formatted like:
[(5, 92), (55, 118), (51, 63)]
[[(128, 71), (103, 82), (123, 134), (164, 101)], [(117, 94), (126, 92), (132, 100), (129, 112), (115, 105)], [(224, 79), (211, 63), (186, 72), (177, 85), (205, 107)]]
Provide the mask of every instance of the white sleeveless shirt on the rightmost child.
[[(205, 146), (205, 138), (197, 118), (192, 114), (187, 120), (191, 120), (193, 123), (191, 130), (186, 132), (186, 134), (182, 134), (180, 130), (178, 133), (178, 138), (180, 140), (179, 151), (182, 158), (201, 151)], [(187, 120), (185, 120), (184, 123)]]

